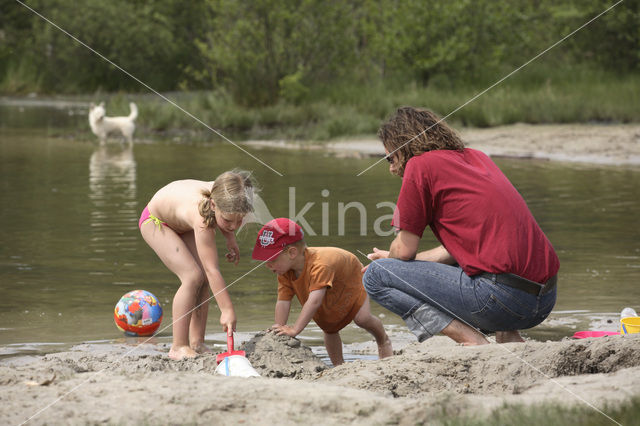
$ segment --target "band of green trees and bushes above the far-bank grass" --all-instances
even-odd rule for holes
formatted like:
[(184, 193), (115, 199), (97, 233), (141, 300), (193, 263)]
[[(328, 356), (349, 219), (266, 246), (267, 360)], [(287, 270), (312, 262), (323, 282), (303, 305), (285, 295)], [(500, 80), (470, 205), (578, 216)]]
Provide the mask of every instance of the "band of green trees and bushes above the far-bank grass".
[[(220, 89), (241, 104), (265, 105), (279, 99), (335, 100), (344, 89), (353, 88), (357, 94), (358, 88), (377, 85), (485, 84), (615, 2), (86, 0), (78, 7), (73, 0), (32, 0), (28, 4), (157, 90)], [(0, 8), (4, 90), (146, 90), (19, 3), (0, 0)], [(640, 0), (625, 0), (537, 63), (637, 72), (639, 22)]]

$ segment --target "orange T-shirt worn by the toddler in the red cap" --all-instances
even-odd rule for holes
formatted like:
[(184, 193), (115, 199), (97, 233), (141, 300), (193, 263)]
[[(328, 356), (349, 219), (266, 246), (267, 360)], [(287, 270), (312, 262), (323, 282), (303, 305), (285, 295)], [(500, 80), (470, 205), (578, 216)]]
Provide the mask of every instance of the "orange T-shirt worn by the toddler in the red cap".
[(278, 275), (278, 300), (289, 301), (295, 295), (304, 305), (309, 293), (327, 287), (313, 320), (324, 332), (337, 333), (353, 320), (367, 297), (361, 269), (360, 261), (346, 250), (307, 247), (298, 278), (293, 271)]

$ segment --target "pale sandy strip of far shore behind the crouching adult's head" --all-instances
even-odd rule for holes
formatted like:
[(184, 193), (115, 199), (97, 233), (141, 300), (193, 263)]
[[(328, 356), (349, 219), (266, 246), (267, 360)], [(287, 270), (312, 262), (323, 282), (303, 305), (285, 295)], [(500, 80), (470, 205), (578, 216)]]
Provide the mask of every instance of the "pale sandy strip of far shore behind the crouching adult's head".
[[(640, 165), (640, 124), (514, 124), (459, 131), (469, 148), (491, 157), (538, 159), (611, 166)], [(339, 157), (384, 155), (375, 136), (324, 144), (297, 141), (246, 141), (254, 148), (326, 151)]]

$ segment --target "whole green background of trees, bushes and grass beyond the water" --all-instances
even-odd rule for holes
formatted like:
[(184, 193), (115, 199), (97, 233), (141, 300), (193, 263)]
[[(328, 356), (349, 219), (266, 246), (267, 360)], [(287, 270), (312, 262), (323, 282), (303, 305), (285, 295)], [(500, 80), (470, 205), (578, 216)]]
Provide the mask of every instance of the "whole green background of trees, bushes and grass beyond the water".
[[(375, 131), (401, 103), (451, 111), (616, 0), (25, 3), (154, 90), (195, 94), (217, 126), (322, 139)], [(0, 8), (1, 93), (148, 92), (19, 2)], [(624, 0), (456, 119), (640, 121), (639, 89), (640, 0)]]

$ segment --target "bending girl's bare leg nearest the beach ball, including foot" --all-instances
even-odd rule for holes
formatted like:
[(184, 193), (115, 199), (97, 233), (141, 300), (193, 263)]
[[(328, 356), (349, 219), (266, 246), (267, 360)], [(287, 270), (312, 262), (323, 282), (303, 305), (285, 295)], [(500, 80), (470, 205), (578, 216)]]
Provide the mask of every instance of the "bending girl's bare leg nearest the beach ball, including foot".
[(194, 357), (197, 353), (189, 346), (189, 323), (198, 290), (204, 282), (202, 269), (180, 235), (171, 228), (148, 222), (142, 225), (140, 232), (162, 263), (180, 279), (180, 287), (173, 297), (173, 343), (169, 357)]

